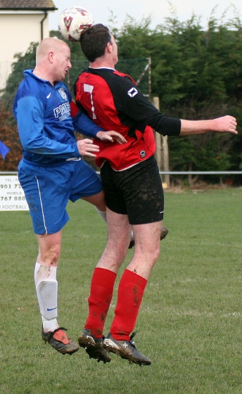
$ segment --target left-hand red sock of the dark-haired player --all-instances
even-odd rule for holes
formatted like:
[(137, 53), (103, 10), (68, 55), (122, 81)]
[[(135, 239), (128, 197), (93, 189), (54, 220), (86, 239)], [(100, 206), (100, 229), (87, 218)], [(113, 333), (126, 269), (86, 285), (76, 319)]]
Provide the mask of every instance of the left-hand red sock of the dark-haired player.
[(91, 290), (88, 298), (89, 315), (85, 329), (91, 329), (92, 335), (102, 338), (103, 327), (113, 297), (113, 286), (117, 275), (104, 268), (95, 268), (91, 279)]

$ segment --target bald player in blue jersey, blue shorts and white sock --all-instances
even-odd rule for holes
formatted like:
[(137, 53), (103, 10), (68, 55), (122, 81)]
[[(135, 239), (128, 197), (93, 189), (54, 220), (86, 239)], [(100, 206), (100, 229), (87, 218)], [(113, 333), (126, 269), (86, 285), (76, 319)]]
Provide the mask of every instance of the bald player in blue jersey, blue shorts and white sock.
[(13, 112), (23, 146), (18, 177), (30, 208), (39, 253), (34, 281), (42, 315), (42, 338), (63, 354), (79, 345), (60, 328), (57, 317), (61, 229), (68, 222), (68, 200), (82, 198), (105, 216), (106, 203), (96, 172), (82, 160), (99, 151), (91, 139), (77, 141), (75, 130), (103, 141), (126, 139), (115, 131), (104, 132), (72, 102), (63, 83), (71, 68), (70, 48), (60, 39), (47, 38), (37, 47), (36, 66), (26, 70), (18, 87)]

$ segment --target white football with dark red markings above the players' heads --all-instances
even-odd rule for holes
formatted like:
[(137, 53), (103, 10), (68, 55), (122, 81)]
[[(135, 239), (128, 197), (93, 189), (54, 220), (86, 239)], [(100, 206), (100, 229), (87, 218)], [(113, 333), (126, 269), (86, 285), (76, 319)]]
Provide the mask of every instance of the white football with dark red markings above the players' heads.
[(59, 17), (58, 28), (65, 39), (79, 42), (81, 33), (94, 23), (94, 18), (81, 6), (66, 8)]

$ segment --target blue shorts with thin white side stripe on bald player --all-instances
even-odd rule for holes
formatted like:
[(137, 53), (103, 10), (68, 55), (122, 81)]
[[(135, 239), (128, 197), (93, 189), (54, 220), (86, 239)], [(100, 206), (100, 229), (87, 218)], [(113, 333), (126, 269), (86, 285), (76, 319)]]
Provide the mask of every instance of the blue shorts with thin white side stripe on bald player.
[(56, 167), (39, 167), (21, 160), (18, 179), (35, 234), (60, 231), (69, 220), (68, 200), (74, 203), (103, 190), (98, 174), (84, 160), (71, 160)]

